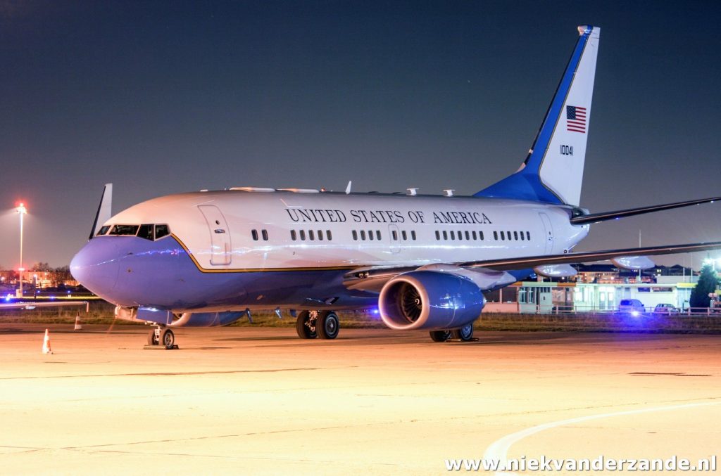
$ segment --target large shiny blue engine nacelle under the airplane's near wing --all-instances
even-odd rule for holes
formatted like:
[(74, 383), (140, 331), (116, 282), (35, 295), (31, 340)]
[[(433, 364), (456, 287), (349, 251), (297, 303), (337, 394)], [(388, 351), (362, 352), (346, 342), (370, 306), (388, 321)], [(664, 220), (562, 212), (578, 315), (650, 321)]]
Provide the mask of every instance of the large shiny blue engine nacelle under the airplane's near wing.
[(460, 328), (478, 318), (483, 292), (470, 279), (440, 271), (410, 271), (386, 282), (379, 297), (383, 322), (392, 329)]

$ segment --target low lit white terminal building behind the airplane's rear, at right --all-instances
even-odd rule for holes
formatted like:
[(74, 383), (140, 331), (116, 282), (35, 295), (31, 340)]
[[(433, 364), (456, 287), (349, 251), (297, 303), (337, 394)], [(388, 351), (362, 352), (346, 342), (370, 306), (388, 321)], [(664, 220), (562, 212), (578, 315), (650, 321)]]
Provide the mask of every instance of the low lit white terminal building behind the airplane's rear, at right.
[(636, 299), (647, 310), (658, 304), (689, 308), (698, 275), (683, 266), (656, 266), (642, 271), (612, 264), (579, 265), (578, 276), (552, 281), (516, 282), (486, 294), (487, 313), (583, 313), (617, 310), (621, 300)]

